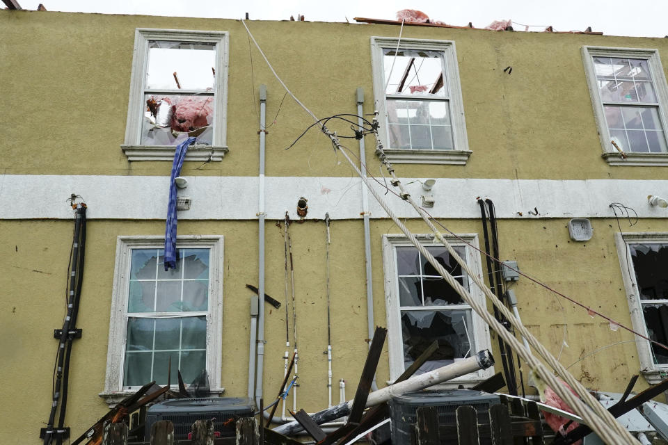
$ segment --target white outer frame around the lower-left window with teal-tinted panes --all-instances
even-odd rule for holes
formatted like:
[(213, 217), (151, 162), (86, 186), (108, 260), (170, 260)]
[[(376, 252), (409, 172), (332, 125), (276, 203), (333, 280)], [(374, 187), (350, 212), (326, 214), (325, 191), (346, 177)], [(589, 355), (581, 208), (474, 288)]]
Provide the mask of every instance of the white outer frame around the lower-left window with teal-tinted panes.
[[(127, 341), (127, 301), (129, 295), (129, 270), (132, 249), (164, 248), (162, 236), (118, 236), (116, 241), (116, 266), (111, 294), (109, 320), (109, 346), (106, 355), (104, 391), (100, 396), (106, 403), (120, 402), (136, 389), (123, 387), (125, 343)], [(222, 346), (223, 346), (223, 236), (177, 236), (177, 248), (209, 249), (209, 309), (207, 314), (207, 374), (209, 387), (214, 394), (221, 394)], [(174, 382), (176, 387), (177, 382)]]

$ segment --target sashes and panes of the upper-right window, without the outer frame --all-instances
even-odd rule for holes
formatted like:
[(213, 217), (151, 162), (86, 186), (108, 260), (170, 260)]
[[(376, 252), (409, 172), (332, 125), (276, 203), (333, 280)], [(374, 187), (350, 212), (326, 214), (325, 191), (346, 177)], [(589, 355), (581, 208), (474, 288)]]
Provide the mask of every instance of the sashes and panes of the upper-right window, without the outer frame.
[(666, 152), (665, 129), (648, 61), (594, 57), (594, 70), (614, 143), (625, 152)]

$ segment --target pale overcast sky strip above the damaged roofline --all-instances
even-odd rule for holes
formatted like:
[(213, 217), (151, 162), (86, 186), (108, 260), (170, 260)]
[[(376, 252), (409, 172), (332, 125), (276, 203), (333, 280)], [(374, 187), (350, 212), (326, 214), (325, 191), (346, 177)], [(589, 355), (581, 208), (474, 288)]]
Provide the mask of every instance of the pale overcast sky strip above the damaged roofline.
[[(43, 3), (47, 10), (106, 14), (145, 14), (182, 17), (220, 17), (285, 20), (302, 14), (321, 22), (353, 22), (353, 17), (395, 19), (404, 8), (422, 10), (431, 19), (447, 24), (484, 28), (493, 20), (512, 19), (518, 30), (534, 25), (542, 31), (552, 25), (556, 31), (593, 31), (607, 35), (664, 37), (668, 35), (668, 0), (18, 0), (24, 9)], [(522, 24), (522, 25), (520, 25)]]

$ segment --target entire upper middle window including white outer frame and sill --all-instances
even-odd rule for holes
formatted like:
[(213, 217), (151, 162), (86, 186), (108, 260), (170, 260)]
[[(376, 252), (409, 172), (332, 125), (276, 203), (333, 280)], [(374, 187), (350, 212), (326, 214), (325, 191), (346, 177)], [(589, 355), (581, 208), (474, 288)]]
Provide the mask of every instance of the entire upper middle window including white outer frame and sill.
[(374, 93), (390, 161), (466, 163), (454, 42), (372, 38)]

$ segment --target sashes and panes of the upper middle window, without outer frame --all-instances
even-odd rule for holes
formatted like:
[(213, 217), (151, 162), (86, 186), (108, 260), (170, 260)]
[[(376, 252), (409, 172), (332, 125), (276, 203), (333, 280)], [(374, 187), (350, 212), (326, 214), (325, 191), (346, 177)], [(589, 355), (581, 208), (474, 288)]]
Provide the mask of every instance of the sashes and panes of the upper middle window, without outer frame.
[(390, 148), (454, 149), (444, 57), (383, 49)]

